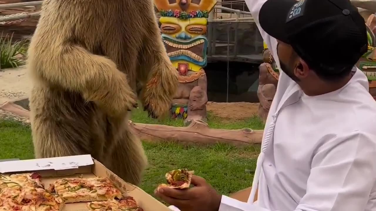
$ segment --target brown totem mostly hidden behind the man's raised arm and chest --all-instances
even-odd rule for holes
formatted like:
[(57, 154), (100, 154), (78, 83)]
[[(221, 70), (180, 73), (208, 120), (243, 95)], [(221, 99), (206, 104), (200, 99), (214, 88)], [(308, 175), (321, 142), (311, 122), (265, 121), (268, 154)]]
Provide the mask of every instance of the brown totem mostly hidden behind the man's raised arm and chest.
[(269, 113), (271, 102), (277, 90), (279, 71), (276, 62), (264, 42), (264, 52), (262, 53), (264, 63), (259, 67), (259, 86), (257, 96), (259, 98), (259, 117), (265, 122)]

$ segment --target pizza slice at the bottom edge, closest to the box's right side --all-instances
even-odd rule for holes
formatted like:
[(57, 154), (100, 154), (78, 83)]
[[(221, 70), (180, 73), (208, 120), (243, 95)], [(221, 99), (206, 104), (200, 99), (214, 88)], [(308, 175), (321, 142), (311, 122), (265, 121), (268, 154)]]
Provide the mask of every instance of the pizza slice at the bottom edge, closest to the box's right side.
[(143, 211), (132, 196), (123, 197), (119, 201), (109, 199), (102, 202), (89, 202), (87, 206), (90, 211)]

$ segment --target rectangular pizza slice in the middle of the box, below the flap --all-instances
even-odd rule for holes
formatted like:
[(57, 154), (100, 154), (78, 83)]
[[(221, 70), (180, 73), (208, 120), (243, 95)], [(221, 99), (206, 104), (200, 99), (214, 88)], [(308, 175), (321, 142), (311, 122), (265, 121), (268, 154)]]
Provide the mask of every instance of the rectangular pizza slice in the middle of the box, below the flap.
[(121, 198), (121, 192), (108, 178), (58, 179), (50, 187), (65, 199), (65, 203), (104, 201)]

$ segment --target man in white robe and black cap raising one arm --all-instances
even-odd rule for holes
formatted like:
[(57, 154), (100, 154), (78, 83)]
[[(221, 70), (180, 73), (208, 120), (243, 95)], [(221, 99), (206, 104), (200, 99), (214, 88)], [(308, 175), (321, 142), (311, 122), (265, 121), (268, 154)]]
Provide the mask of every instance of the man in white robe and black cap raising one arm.
[(199, 176), (156, 195), (181, 211), (376, 211), (376, 102), (354, 66), (364, 20), (349, 0), (245, 1), (282, 70), (248, 203)]

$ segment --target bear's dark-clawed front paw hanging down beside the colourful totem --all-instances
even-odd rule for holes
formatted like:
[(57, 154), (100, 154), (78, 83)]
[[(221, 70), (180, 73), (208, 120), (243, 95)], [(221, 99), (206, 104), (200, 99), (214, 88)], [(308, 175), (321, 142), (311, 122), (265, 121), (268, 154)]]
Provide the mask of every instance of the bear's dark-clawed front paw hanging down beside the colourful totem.
[(177, 78), (165, 78), (158, 81), (152, 78), (148, 81), (144, 93), (144, 111), (152, 118), (160, 118), (171, 108), (171, 101), (177, 89)]

